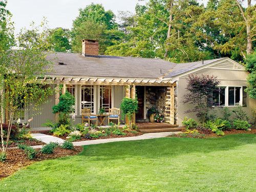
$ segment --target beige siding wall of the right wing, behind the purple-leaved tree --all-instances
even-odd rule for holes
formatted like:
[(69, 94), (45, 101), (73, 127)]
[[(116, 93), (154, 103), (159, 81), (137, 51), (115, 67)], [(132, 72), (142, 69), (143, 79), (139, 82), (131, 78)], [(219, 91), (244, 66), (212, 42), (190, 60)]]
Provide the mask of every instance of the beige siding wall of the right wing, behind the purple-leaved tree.
[[(221, 81), (220, 86), (247, 86), (246, 77), (248, 72), (246, 71), (235, 71), (235, 70), (223, 70), (223, 69), (203, 69), (193, 73), (196, 74), (206, 74), (214, 75)], [(196, 118), (195, 114), (185, 113), (188, 109), (191, 108), (189, 104), (183, 104), (183, 97), (186, 93), (186, 78), (188, 75), (180, 77), (177, 83), (178, 89), (178, 124), (182, 125), (182, 120), (184, 117)], [(235, 106), (229, 106), (228, 108), (236, 108)], [(248, 116), (251, 117), (251, 109), (256, 108), (255, 99), (250, 99), (247, 96), (247, 106), (243, 109), (247, 112)], [(218, 109), (218, 108), (217, 108)], [(219, 108), (220, 109), (220, 108)], [(218, 111), (220, 112), (220, 110)]]

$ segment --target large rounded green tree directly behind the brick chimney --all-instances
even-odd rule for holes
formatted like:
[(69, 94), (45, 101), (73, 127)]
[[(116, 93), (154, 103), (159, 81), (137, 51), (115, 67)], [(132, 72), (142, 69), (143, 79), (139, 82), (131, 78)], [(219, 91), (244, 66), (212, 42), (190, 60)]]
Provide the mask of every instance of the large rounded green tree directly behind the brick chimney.
[(73, 21), (72, 51), (81, 52), (81, 40), (90, 38), (99, 40), (100, 53), (104, 54), (106, 47), (116, 44), (121, 31), (117, 30), (115, 14), (100, 4), (91, 4), (79, 10), (79, 15)]

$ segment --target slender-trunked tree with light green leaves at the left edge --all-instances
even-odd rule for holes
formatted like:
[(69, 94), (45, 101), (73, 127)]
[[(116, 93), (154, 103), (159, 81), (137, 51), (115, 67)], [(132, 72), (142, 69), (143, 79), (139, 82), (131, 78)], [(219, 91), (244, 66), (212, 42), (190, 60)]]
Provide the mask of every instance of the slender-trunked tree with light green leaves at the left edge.
[[(19, 49), (7, 50), (0, 58), (1, 152), (4, 154), (12, 124), (21, 113), (20, 103), (28, 105), (34, 102), (36, 107), (53, 93), (49, 86), (36, 83), (36, 77), (45, 75), (51, 69), (51, 62), (46, 59), (47, 53), (44, 52), (49, 47), (47, 36), (48, 30), (44, 28), (32, 27), (31, 30), (21, 31), (17, 37)], [(6, 135), (4, 118), (8, 127)]]

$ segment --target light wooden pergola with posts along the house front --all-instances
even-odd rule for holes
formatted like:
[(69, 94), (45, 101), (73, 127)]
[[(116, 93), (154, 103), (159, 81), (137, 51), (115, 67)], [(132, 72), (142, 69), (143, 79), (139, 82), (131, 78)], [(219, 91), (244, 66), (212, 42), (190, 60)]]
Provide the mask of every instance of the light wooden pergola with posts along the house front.
[[(56, 84), (55, 104), (59, 102), (59, 85), (63, 84), (62, 94), (66, 92), (66, 84), (98, 85), (98, 86), (126, 86), (125, 97), (135, 98), (136, 86), (164, 86), (167, 87), (165, 99), (165, 122), (174, 124), (175, 102), (174, 90), (176, 82), (164, 78), (119, 78), (119, 77), (71, 77), (71, 76), (44, 76), (38, 77), (38, 82)], [(57, 118), (57, 117), (56, 117)], [(135, 122), (135, 116), (133, 118)]]

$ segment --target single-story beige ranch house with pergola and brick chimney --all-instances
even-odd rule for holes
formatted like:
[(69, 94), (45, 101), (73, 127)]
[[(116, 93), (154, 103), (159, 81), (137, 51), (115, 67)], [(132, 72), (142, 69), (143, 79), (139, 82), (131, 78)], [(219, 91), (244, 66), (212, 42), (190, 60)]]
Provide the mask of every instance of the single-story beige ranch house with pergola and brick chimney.
[[(98, 55), (98, 41), (82, 40), (82, 54), (53, 53), (47, 59), (54, 63), (53, 71), (44, 78), (62, 93), (70, 92), (75, 97), (76, 123), (81, 122), (81, 110), (90, 108), (97, 114), (99, 108), (106, 111), (120, 108), (123, 97), (135, 98), (139, 110), (136, 121), (148, 121), (147, 110), (156, 106), (164, 114), (165, 122), (182, 125), (190, 108), (183, 104), (186, 78), (189, 74), (208, 74), (221, 81), (218, 105), (243, 109), (251, 115), (255, 100), (244, 91), (248, 72), (244, 66), (230, 58), (218, 58), (197, 62), (173, 63), (162, 59), (134, 58)], [(41, 127), (47, 120), (54, 120), (52, 106), (58, 103), (59, 92), (41, 106), (41, 115), (33, 117), (32, 127)], [(31, 117), (28, 111), (25, 118)]]

